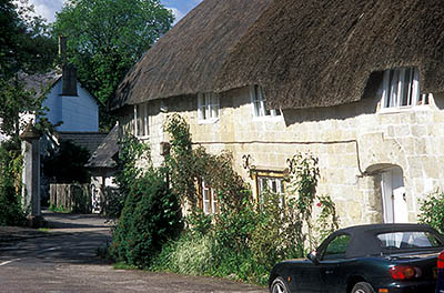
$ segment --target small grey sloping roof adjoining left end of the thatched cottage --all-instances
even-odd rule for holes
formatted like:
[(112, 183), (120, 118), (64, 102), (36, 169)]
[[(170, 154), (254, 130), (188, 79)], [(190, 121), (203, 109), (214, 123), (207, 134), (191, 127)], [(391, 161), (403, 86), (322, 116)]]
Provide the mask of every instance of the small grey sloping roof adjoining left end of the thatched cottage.
[(119, 152), (119, 128), (115, 125), (102, 143), (97, 148), (95, 152), (88, 160), (88, 168), (115, 168), (114, 155)]

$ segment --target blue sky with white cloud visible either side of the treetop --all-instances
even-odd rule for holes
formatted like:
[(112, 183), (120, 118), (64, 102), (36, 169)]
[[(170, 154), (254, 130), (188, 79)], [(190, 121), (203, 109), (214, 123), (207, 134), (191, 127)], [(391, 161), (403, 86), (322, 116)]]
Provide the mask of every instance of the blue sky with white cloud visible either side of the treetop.
[[(46, 18), (49, 22), (56, 20), (56, 11), (60, 11), (64, 0), (29, 0), (36, 8), (36, 13)], [(175, 22), (183, 18), (191, 9), (202, 0), (161, 0), (161, 3), (171, 9), (175, 16)]]

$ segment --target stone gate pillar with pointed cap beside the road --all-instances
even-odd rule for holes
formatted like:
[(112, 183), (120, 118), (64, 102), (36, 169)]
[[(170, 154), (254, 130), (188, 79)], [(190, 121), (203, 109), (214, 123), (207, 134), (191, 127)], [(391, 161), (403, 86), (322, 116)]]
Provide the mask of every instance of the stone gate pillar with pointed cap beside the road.
[(22, 206), (31, 226), (41, 226), (43, 218), (40, 206), (40, 133), (30, 123), (22, 138)]

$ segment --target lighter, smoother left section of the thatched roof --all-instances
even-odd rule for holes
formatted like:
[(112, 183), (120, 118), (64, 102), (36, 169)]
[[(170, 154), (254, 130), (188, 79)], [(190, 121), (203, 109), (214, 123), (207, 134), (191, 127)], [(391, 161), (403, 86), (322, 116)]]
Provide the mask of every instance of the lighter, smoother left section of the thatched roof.
[(229, 50), (271, 1), (202, 1), (132, 68), (109, 108), (212, 91)]

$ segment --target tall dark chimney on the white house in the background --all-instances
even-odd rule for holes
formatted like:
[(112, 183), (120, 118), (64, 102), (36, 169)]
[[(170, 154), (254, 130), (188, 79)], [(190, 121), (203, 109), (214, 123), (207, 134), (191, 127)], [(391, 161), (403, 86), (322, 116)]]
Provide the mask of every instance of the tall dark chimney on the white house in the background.
[(62, 63), (62, 95), (77, 97), (77, 70), (67, 58), (67, 37), (59, 37), (59, 57)]

